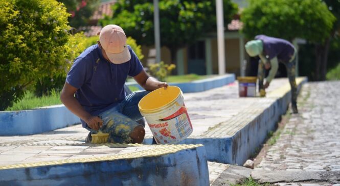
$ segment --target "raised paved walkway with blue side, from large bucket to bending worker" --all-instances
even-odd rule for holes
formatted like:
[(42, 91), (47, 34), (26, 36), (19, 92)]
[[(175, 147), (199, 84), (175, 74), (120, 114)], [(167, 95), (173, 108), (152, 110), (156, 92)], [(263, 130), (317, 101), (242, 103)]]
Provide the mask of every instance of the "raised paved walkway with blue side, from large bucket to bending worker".
[[(297, 78), (298, 90), (306, 81)], [(205, 145), (209, 161), (243, 165), (286, 112), (290, 85), (287, 78), (275, 79), (264, 98), (239, 97), (237, 82), (184, 97), (194, 131), (181, 143)], [(145, 143), (151, 143), (146, 130)]]

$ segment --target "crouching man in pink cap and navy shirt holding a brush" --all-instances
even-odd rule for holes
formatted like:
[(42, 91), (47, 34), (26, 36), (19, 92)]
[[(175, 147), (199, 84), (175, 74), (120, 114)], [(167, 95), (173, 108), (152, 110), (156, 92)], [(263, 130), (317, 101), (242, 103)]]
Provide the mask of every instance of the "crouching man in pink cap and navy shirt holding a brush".
[[(146, 91), (126, 95), (124, 84), (132, 76)], [(85, 49), (67, 73), (60, 99), (89, 130), (85, 142), (101, 131), (109, 143), (142, 143), (144, 125), (139, 101), (149, 92), (168, 85), (150, 77), (130, 46), (123, 29), (106, 25), (98, 44)]]

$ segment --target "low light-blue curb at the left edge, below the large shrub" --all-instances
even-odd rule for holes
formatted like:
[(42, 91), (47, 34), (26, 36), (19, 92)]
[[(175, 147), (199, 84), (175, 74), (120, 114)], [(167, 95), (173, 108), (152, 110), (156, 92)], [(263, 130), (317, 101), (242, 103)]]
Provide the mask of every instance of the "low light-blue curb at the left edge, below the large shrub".
[(0, 136), (33, 135), (80, 123), (63, 104), (26, 111), (1, 111)]

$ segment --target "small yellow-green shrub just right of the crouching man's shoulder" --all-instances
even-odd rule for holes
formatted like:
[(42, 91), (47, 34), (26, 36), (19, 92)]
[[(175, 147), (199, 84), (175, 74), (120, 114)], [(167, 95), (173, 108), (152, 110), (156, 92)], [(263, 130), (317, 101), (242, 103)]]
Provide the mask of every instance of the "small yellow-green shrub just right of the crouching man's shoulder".
[(176, 65), (168, 65), (161, 61), (160, 63), (149, 65), (149, 73), (159, 81), (166, 82), (168, 75), (171, 74), (171, 71), (175, 68)]

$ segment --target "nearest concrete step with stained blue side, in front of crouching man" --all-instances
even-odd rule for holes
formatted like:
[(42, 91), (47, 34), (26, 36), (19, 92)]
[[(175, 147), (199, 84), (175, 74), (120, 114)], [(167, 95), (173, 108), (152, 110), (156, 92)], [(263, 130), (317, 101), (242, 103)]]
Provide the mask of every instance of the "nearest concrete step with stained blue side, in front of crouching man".
[(0, 185), (209, 184), (203, 145), (39, 142), (2, 144)]

